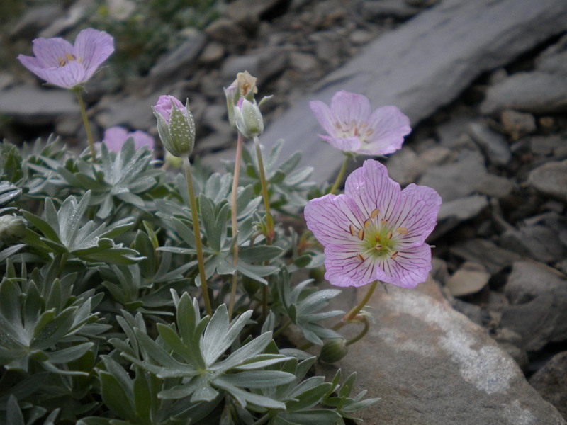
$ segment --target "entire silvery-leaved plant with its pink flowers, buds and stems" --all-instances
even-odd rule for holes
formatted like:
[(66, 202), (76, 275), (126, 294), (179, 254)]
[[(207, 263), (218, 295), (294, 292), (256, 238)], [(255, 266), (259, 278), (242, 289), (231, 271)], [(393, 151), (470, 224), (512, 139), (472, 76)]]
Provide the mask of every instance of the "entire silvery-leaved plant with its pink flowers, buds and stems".
[[(257, 103), (247, 72), (225, 89), (238, 136), (224, 174), (191, 163), (189, 101), (159, 98), (166, 165), (179, 157), (184, 171), (169, 172), (148, 135), (90, 136), (80, 91), (111, 54), (110, 35), (89, 29), (74, 46), (34, 47), (35, 57), (19, 59), (77, 93), (89, 148), (69, 154), (56, 138), (0, 144), (0, 420), (344, 424), (374, 404), (365, 391), (352, 395), (354, 373), (344, 382), (340, 370), (330, 381), (315, 375), (304, 350), (322, 346), (322, 361), (338, 361), (366, 334), (363, 308), (378, 281), (425, 280), (437, 193), (402, 191), (374, 159), (347, 178), (344, 194), (334, 192), (345, 167), (330, 189), (310, 181), (301, 154), (280, 159), (281, 141), (262, 149), (267, 99)], [(409, 131), (397, 108), (371, 114), (361, 95), (339, 92), (331, 108), (312, 107), (347, 160), (393, 152)], [(298, 277), (323, 264), (333, 285), (369, 284), (347, 314), (327, 310), (340, 290)], [(338, 331), (352, 323), (363, 330), (345, 341)], [(281, 337), (291, 326), (303, 335), (298, 347)]]

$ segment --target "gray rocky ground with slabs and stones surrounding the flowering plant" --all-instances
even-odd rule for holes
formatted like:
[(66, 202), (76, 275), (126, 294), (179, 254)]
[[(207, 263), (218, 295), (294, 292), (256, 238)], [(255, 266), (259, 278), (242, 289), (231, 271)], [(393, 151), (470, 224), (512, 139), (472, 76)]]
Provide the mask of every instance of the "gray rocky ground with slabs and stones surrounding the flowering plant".
[[(567, 4), (470, 3), (237, 0), (124, 90), (89, 86), (99, 134), (118, 124), (155, 133), (157, 96), (189, 97), (197, 154), (218, 166), (234, 144), (222, 86), (248, 69), (261, 95), (274, 94), (263, 142), (283, 137), (289, 152), (303, 150), (319, 181), (340, 154), (317, 141), (307, 100), (347, 89), (408, 113), (414, 131), (386, 165), (444, 203), (432, 280), (378, 291), (375, 327), (340, 363), (383, 398), (368, 424), (567, 418)], [(13, 40), (49, 29), (30, 34), (25, 19)], [(0, 74), (0, 89), (0, 115), (10, 117), (1, 135), (82, 140), (64, 91), (26, 72)], [(360, 297), (348, 294), (344, 305)]]

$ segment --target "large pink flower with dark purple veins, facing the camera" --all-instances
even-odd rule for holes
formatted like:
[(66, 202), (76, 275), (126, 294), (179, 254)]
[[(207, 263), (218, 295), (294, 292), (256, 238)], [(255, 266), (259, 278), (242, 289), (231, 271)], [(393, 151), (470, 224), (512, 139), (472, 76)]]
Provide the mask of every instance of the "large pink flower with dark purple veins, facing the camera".
[(347, 178), (344, 195), (325, 195), (305, 207), (307, 227), (325, 245), (325, 278), (337, 286), (424, 282), (431, 270), (425, 238), (439, 205), (434, 189), (410, 184), (401, 190), (385, 166), (367, 159)]

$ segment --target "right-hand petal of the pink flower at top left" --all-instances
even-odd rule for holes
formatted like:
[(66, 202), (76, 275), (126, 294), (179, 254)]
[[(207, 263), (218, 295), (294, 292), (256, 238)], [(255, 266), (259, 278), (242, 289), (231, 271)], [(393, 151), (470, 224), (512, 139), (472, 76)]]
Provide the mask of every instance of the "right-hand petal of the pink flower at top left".
[(85, 81), (112, 52), (114, 52), (114, 39), (104, 31), (86, 28), (77, 35), (73, 54), (85, 68)]

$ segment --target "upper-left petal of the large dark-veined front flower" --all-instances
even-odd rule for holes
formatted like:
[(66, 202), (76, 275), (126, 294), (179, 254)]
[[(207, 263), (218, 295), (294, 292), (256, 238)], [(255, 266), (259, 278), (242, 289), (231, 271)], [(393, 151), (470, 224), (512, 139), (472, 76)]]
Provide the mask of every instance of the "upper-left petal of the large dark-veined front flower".
[(360, 241), (353, 236), (350, 226), (360, 229), (364, 222), (357, 205), (344, 195), (325, 195), (310, 200), (305, 205), (307, 227), (323, 244), (347, 244), (357, 246)]

